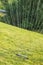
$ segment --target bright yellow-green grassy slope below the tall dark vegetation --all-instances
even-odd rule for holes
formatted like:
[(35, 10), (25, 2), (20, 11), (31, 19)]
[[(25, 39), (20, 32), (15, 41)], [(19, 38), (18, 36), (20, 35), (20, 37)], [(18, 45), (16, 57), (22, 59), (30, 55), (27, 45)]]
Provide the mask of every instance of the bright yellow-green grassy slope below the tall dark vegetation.
[(43, 35), (0, 22), (0, 65), (43, 65)]

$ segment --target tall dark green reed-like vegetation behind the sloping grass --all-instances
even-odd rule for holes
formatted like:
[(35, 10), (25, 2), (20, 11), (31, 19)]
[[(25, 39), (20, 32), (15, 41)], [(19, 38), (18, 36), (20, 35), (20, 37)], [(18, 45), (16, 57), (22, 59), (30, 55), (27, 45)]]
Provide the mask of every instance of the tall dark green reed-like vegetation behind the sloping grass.
[(43, 32), (43, 0), (0, 0), (7, 11), (1, 21)]

